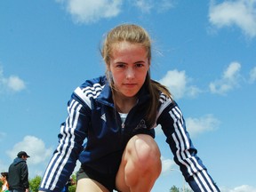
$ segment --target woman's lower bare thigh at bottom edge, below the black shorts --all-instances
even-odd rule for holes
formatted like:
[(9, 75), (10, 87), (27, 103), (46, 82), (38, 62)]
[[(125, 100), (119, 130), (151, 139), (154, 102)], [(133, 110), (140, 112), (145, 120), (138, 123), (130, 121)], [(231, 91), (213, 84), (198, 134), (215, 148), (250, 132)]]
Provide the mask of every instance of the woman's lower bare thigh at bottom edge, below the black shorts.
[(108, 189), (101, 185), (96, 180), (91, 180), (89, 178), (84, 178), (78, 180), (76, 186), (76, 192), (108, 192)]

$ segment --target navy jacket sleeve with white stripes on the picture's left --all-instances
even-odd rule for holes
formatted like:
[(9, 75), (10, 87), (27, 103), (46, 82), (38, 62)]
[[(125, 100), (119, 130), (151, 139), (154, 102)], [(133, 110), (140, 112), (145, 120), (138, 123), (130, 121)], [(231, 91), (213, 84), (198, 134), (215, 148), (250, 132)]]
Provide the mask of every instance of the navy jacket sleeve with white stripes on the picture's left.
[(60, 126), (59, 145), (53, 152), (39, 190), (61, 191), (76, 167), (90, 124), (90, 108), (76, 93), (68, 101), (68, 117)]

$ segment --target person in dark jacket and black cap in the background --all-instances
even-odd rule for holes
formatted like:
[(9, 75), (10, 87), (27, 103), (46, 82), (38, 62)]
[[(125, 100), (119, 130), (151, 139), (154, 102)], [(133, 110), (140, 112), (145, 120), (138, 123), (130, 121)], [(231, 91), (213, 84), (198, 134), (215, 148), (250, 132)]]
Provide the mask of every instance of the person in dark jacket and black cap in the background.
[(13, 160), (8, 171), (9, 190), (11, 192), (28, 192), (28, 165), (27, 158), (30, 157), (25, 151), (20, 151)]

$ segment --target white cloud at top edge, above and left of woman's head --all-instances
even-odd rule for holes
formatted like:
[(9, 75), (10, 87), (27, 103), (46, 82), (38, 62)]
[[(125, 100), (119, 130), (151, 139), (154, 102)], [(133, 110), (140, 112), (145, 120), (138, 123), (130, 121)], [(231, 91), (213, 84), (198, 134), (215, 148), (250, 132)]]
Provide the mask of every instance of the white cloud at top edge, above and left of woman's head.
[(58, 0), (67, 5), (68, 12), (78, 23), (91, 23), (116, 17), (121, 12), (122, 0)]

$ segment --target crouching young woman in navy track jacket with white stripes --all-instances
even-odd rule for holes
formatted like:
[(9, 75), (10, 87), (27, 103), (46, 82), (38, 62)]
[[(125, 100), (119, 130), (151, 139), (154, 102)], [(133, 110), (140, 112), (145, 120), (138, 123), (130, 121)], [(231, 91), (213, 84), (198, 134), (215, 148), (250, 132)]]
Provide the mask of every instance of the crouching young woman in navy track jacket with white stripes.
[(174, 160), (194, 191), (220, 191), (196, 156), (180, 108), (150, 78), (147, 31), (124, 24), (108, 32), (102, 57), (106, 76), (85, 81), (68, 101), (59, 146), (41, 191), (59, 191), (79, 158), (76, 191), (148, 192), (161, 172), (154, 128), (161, 124)]

